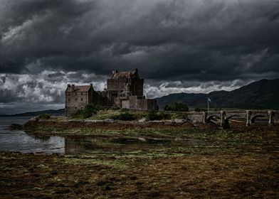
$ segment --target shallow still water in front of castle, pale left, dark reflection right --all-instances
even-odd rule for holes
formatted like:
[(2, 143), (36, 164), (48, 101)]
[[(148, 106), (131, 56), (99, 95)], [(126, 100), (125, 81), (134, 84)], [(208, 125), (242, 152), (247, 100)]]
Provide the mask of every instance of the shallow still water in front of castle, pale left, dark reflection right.
[(194, 139), (159, 139), (131, 136), (49, 136), (11, 130), (9, 125), (23, 124), (30, 117), (0, 117), (0, 151), (43, 154), (150, 153), (175, 146), (201, 146)]

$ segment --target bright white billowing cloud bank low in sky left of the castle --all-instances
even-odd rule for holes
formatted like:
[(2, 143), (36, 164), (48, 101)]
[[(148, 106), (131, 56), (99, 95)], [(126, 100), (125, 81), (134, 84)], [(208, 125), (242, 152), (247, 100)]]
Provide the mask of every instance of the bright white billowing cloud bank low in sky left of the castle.
[(93, 83), (95, 90), (105, 87), (106, 77), (85, 72), (51, 72), (44, 70), (36, 75), (0, 74), (0, 102), (64, 103), (67, 83)]

